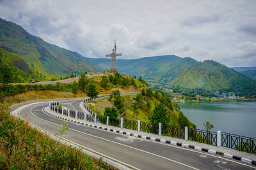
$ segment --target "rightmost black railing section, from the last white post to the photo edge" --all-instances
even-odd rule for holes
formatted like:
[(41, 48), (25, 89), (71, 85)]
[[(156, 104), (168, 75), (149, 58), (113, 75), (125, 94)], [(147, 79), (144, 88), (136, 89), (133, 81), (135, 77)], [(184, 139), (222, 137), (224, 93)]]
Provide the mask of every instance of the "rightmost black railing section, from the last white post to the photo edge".
[(221, 146), (256, 154), (256, 139), (221, 132)]

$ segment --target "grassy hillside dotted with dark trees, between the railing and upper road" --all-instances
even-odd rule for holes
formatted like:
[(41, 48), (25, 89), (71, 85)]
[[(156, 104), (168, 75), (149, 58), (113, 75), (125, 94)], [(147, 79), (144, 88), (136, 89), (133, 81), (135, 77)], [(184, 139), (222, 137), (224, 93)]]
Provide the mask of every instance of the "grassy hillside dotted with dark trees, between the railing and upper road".
[[(110, 97), (93, 100), (86, 105), (99, 115), (107, 115), (107, 113), (111, 115), (110, 108), (115, 108), (119, 118), (124, 117), (154, 124), (161, 122), (182, 127), (196, 127), (183, 115), (182, 111), (179, 110), (179, 106), (176, 103), (172, 103), (164, 93), (152, 92), (152, 90), (147, 89), (136, 95), (120, 96), (119, 94), (120, 92), (116, 90), (112, 92)], [(115, 103), (116, 100), (118, 102)]]

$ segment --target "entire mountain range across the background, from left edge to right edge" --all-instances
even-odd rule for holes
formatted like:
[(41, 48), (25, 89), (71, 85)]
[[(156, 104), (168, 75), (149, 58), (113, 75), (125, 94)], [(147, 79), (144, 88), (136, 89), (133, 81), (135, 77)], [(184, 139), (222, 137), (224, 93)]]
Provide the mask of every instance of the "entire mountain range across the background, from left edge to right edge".
[[(20, 74), (26, 75), (26, 78), (20, 77), (20, 81), (33, 77), (49, 80), (54, 76), (80, 74), (84, 71), (106, 71), (111, 63), (110, 59), (86, 58), (79, 53), (46, 43), (19, 25), (1, 18), (0, 48), (1, 53), (4, 53), (2, 56), (5, 57), (1, 58), (0, 64), (6, 60), (5, 64), (19, 69)], [(17, 64), (17, 60), (22, 64)], [(198, 62), (189, 57), (162, 55), (131, 60), (118, 59), (116, 66), (118, 73), (141, 76), (152, 86), (168, 83), (190, 89), (255, 90), (255, 81), (251, 78), (214, 61)], [(255, 72), (244, 74), (253, 76)]]

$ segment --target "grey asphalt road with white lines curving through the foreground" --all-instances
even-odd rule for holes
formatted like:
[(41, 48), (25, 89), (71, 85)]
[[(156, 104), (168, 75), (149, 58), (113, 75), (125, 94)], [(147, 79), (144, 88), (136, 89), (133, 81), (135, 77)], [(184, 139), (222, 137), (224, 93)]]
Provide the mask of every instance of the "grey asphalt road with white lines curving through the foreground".
[[(79, 110), (79, 102), (81, 100), (65, 101), (61, 104)], [(46, 131), (56, 133), (61, 129), (61, 120), (44, 113), (43, 108), (46, 106), (49, 106), (49, 103), (27, 106), (20, 112), (20, 117)], [(67, 124), (70, 130), (63, 134), (63, 138), (131, 169), (256, 169), (243, 162), (223, 159), (209, 153), (125, 136), (71, 122)]]

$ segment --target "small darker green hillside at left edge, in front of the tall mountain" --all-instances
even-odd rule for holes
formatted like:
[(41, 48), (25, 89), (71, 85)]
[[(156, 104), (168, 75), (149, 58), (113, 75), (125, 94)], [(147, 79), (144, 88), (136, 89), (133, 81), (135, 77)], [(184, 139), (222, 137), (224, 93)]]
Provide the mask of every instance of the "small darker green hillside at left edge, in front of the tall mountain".
[(17, 75), (15, 76), (14, 82), (28, 82), (31, 79), (45, 79), (43, 74), (31, 69), (21, 57), (0, 48), (0, 66), (3, 66), (4, 64), (15, 69)]

